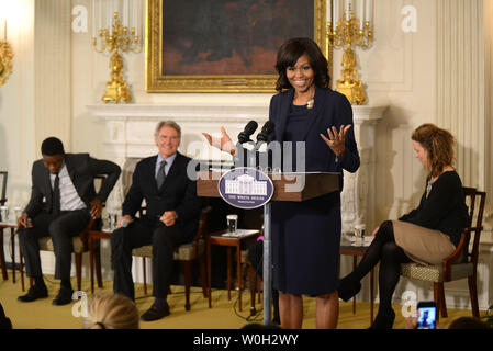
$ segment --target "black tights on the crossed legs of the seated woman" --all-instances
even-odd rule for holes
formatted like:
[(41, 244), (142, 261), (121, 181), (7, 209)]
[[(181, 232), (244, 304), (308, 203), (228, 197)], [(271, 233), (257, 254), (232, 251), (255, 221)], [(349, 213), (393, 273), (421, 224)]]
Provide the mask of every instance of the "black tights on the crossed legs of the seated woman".
[(392, 308), (392, 295), (401, 276), (401, 263), (411, 262), (404, 250), (395, 244), (391, 220), (385, 220), (380, 226), (360, 263), (350, 274), (351, 281), (361, 281), (379, 261), (379, 312), (385, 312)]

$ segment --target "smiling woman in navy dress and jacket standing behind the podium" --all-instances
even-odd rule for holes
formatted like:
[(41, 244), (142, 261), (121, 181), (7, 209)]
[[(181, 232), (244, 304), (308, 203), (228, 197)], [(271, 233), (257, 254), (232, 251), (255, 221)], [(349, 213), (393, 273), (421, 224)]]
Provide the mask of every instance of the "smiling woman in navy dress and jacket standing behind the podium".
[[(316, 296), (316, 327), (336, 328), (343, 169), (356, 172), (360, 159), (352, 109), (329, 89), (327, 60), (310, 38), (291, 38), (278, 50), (278, 81), (269, 106), (276, 126), (268, 143), (279, 143), (282, 171), (337, 172), (340, 190), (305, 202), (272, 202), (273, 286), (279, 291), (282, 328), (301, 329), (303, 295)], [(224, 127), (208, 141), (235, 156)], [(328, 147), (327, 147), (328, 146)], [(291, 167), (289, 167), (291, 166)]]

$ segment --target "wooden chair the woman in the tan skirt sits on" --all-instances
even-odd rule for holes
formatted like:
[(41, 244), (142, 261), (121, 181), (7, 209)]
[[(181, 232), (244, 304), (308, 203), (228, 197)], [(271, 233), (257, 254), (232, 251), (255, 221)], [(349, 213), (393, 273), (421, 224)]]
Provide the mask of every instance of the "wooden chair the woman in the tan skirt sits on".
[[(469, 206), (471, 226), (462, 231), (462, 236), (456, 251), (445, 258), (441, 264), (401, 264), (401, 274), (403, 276), (433, 282), (434, 299), (437, 304), (437, 319), (439, 310), (441, 310), (441, 317), (447, 317), (444, 283), (464, 278), (468, 279), (472, 315), (474, 317), (479, 317), (480, 315), (478, 306), (477, 270), (480, 235), (483, 229), (482, 220), (486, 193), (477, 191), (474, 188), (463, 188), (463, 191), (466, 194), (467, 204)], [(473, 237), (472, 246), (469, 245), (471, 236)]]

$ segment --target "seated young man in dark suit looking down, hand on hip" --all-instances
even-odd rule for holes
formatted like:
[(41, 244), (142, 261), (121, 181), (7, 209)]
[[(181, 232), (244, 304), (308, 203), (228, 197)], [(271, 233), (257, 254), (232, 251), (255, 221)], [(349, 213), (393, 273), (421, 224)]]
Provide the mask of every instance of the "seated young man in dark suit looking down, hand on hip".
[[(43, 159), (33, 163), (31, 200), (18, 218), (19, 241), (24, 254), (27, 276), (34, 285), (20, 302), (47, 297), (48, 292), (41, 269), (41, 237), (51, 236), (55, 249), (55, 279), (60, 290), (54, 305), (71, 302), (70, 268), (72, 237), (79, 235), (89, 219), (101, 217), (102, 203), (120, 177), (120, 167), (111, 161), (97, 160), (89, 154), (65, 154), (64, 144), (55, 138), (41, 146)], [(99, 193), (94, 177), (105, 174)]]

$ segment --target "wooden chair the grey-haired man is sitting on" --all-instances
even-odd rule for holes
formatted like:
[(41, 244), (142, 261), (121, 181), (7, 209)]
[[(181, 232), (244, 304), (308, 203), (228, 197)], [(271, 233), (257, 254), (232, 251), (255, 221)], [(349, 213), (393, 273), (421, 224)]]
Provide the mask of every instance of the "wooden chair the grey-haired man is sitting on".
[[(199, 229), (193, 238), (192, 242), (180, 245), (173, 254), (175, 261), (181, 261), (183, 265), (184, 275), (184, 309), (190, 310), (190, 285), (192, 281), (192, 262), (199, 260), (200, 267), (200, 280), (202, 283), (202, 293), (204, 297), (208, 297), (206, 279), (205, 279), (205, 233), (208, 225), (208, 216), (211, 212), (211, 207), (206, 206), (202, 208), (199, 219)], [(146, 245), (132, 250), (132, 256), (142, 258), (143, 275), (144, 275), (144, 294), (147, 295), (147, 282), (146, 282), (146, 258), (153, 257), (153, 246)]]

